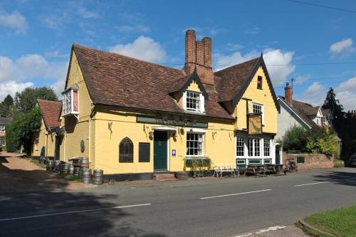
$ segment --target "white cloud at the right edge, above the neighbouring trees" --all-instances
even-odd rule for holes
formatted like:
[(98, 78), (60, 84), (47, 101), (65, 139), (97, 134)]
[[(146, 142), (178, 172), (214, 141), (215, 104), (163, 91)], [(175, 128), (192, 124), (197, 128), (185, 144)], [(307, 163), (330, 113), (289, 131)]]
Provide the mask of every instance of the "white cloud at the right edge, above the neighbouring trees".
[(343, 105), (344, 110), (356, 109), (356, 77), (345, 80), (335, 88), (336, 98)]

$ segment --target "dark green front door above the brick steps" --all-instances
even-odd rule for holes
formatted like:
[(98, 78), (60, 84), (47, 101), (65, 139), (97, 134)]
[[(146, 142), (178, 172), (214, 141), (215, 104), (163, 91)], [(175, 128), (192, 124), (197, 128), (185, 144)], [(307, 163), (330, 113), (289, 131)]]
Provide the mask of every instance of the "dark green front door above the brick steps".
[(155, 131), (153, 139), (153, 153), (154, 169), (167, 170), (167, 132)]

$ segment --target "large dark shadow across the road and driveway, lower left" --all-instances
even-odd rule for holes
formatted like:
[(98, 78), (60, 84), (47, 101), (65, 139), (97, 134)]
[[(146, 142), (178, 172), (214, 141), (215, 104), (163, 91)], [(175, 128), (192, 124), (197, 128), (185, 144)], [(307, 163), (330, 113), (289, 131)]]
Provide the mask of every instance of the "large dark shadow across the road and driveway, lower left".
[[(134, 217), (124, 209), (110, 209), (120, 206), (119, 195), (65, 191), (68, 181), (51, 172), (8, 169), (1, 155), (0, 162), (0, 236), (162, 236), (135, 228)], [(88, 209), (104, 210), (38, 216)], [(36, 217), (1, 221), (23, 216)]]

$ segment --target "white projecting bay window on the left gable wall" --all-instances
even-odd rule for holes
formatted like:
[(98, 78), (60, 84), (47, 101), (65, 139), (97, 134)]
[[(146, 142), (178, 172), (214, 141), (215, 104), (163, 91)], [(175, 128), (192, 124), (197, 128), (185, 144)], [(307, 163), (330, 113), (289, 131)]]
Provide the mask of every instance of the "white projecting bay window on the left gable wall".
[(78, 85), (72, 85), (67, 90), (63, 91), (63, 107), (62, 114), (78, 115), (79, 114), (79, 98), (78, 98)]

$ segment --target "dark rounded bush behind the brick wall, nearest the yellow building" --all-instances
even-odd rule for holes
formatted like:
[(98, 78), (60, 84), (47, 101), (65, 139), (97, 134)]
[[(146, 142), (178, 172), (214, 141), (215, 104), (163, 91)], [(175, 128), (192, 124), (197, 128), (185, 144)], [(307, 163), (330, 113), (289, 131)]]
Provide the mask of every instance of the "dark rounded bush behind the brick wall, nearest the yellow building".
[(283, 149), (289, 153), (306, 152), (307, 131), (298, 125), (290, 127), (282, 138)]

